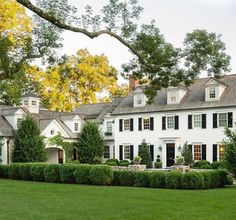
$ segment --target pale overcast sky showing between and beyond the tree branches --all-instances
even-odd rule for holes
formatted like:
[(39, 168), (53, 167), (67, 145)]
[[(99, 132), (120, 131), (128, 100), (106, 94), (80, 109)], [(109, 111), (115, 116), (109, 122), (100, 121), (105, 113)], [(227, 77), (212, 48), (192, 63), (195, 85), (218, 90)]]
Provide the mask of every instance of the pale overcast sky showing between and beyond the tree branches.
[[(80, 8), (84, 2), (98, 11), (108, 0), (70, 2)], [(186, 33), (194, 29), (221, 34), (226, 53), (231, 56), (229, 74), (236, 74), (236, 0), (139, 0), (139, 4), (144, 8), (141, 23), (155, 19), (160, 32), (176, 47), (181, 47)], [(132, 58), (128, 49), (110, 36), (91, 40), (82, 34), (65, 31), (63, 38), (63, 53), (71, 55), (85, 48), (92, 54), (104, 53), (118, 70), (122, 63)]]

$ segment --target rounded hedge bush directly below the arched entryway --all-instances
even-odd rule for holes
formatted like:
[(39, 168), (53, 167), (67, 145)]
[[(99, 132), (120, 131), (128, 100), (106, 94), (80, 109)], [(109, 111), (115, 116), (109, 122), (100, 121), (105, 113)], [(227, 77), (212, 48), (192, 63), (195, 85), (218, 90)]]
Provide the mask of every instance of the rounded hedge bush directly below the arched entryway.
[(61, 164), (49, 164), (44, 169), (44, 180), (49, 183), (61, 182)]

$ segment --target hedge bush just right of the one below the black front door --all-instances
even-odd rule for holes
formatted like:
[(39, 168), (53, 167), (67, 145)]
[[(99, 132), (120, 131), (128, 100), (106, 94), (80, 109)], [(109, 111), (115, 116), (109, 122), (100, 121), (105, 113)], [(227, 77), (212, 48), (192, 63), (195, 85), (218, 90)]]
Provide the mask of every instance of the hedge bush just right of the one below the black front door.
[(183, 189), (203, 189), (204, 177), (200, 172), (187, 172), (183, 174)]

